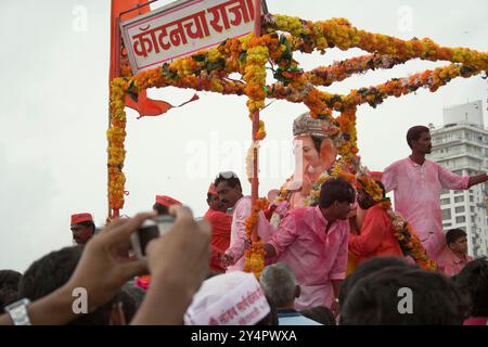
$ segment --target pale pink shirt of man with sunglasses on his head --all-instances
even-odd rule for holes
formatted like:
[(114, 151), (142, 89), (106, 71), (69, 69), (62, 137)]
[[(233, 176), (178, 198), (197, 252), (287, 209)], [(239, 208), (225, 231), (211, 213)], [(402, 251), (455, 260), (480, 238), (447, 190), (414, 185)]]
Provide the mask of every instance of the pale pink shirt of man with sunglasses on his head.
[[(241, 197), (234, 205), (234, 211), (232, 214), (231, 226), (231, 241), (230, 246), (226, 252), (231, 252), (234, 259), (236, 259), (233, 266), (229, 266), (227, 271), (242, 271), (244, 270), (244, 249), (246, 245), (246, 220), (251, 216), (253, 208), (253, 201), (251, 196)], [(258, 216), (258, 234), (268, 242), (270, 237), (272, 227), (268, 219), (266, 219), (262, 211)]]

